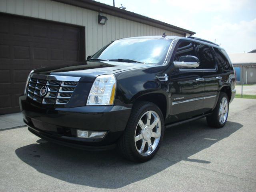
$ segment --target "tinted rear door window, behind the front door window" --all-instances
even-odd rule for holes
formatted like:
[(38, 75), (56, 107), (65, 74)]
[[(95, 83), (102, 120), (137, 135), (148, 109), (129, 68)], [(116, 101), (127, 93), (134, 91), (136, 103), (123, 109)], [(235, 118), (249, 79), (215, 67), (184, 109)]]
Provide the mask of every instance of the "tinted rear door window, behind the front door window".
[(196, 54), (200, 61), (200, 69), (214, 69), (215, 62), (210, 47), (196, 43)]

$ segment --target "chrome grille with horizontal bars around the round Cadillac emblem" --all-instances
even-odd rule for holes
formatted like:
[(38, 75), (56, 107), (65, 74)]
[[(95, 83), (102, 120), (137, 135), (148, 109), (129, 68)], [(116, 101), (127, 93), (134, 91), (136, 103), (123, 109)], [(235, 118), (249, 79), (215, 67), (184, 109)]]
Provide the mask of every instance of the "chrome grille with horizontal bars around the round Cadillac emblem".
[[(27, 96), (42, 104), (67, 104), (78, 82), (57, 81), (30, 78)], [(40, 95), (42, 87), (46, 86), (48, 92), (45, 96)]]

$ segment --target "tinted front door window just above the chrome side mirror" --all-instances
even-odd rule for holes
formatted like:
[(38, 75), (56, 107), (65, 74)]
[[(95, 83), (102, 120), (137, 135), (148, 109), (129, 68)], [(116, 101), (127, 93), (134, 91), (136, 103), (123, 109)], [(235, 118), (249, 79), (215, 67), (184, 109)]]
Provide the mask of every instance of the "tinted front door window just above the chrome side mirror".
[(189, 41), (180, 42), (176, 50), (176, 53), (174, 55), (173, 61), (179, 61), (179, 58), (181, 56), (186, 56), (186, 55), (196, 56), (193, 42), (189, 42)]

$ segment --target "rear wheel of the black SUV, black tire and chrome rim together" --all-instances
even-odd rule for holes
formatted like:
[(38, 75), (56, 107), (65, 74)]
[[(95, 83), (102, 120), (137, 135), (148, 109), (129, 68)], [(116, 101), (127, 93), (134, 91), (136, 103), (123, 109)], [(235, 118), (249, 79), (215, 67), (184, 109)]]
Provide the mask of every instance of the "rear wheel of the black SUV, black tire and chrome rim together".
[(218, 102), (212, 112), (212, 115), (206, 117), (208, 125), (214, 128), (222, 128), (227, 122), (228, 110), (228, 95), (224, 92), (220, 92)]

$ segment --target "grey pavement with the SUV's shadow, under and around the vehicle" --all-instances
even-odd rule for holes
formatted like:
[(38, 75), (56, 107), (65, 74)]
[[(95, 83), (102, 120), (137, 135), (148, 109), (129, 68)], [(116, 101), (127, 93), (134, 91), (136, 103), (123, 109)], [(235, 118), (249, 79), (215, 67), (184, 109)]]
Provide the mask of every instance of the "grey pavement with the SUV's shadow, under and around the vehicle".
[(135, 164), (115, 150), (50, 144), (26, 127), (0, 131), (0, 191), (256, 191), (256, 100), (235, 99), (224, 128), (205, 119), (168, 129)]

